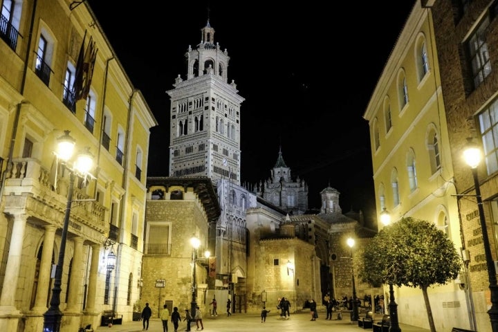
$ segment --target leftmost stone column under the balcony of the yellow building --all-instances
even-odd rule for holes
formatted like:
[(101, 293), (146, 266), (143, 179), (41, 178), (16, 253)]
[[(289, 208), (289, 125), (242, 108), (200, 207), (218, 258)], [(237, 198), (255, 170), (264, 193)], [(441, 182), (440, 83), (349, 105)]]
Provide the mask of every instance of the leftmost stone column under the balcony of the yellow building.
[(3, 279), (2, 293), (0, 295), (0, 315), (19, 315), (20, 313), (15, 306), (15, 294), (17, 281), (19, 280), (19, 270), (21, 270), (21, 254), (27, 219), (27, 214), (14, 214), (6, 275)]

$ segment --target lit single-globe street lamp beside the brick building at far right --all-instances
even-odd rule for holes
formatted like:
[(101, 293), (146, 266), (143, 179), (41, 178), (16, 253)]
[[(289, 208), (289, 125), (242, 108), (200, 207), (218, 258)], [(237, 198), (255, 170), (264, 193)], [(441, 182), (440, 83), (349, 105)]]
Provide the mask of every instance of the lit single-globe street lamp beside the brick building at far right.
[(479, 221), (481, 223), (481, 233), (483, 238), (484, 253), (486, 255), (486, 268), (488, 269), (488, 281), (491, 293), (491, 308), (488, 310), (488, 315), (491, 321), (492, 332), (498, 332), (498, 285), (495, 271), (495, 263), (491, 255), (491, 247), (488, 237), (488, 228), (486, 225), (486, 218), (484, 217), (484, 208), (481, 197), (481, 188), (479, 187), (479, 178), (477, 176), (477, 166), (481, 162), (481, 149), (468, 138), (468, 146), (463, 151), (463, 158), (465, 162), (472, 169), (472, 176), (474, 178), (474, 187), (477, 199), (477, 208), (479, 210)]

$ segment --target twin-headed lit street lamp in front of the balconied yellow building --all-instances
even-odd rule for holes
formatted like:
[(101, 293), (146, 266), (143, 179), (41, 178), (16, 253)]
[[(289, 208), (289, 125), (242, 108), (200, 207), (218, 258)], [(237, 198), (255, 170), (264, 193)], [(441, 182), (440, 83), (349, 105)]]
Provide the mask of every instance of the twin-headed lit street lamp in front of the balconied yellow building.
[(60, 293), (62, 291), (62, 268), (64, 266), (64, 255), (66, 253), (66, 239), (69, 225), (69, 215), (71, 214), (71, 204), (73, 203), (73, 187), (76, 176), (86, 176), (93, 165), (93, 157), (88, 149), (84, 150), (73, 164), (69, 167), (68, 160), (71, 159), (74, 152), (75, 140), (69, 135), (69, 131), (64, 132), (64, 136), (57, 139), (58, 147), (55, 152), (57, 159), (62, 161), (62, 165), (69, 172), (69, 189), (66, 203), (66, 212), (64, 214), (64, 223), (62, 225), (61, 244), (59, 249), (59, 260), (55, 268), (54, 286), (52, 288), (52, 297), (50, 299), (50, 307), (44, 313), (44, 332), (58, 332), (62, 320), (63, 313), (60, 311)]

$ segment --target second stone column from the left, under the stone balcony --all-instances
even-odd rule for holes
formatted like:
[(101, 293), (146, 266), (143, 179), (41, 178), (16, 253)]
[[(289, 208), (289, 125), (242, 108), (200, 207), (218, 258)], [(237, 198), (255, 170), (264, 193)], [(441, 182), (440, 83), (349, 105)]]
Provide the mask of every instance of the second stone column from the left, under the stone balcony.
[(53, 225), (45, 226), (44, 244), (42, 250), (42, 261), (40, 262), (38, 286), (35, 297), (35, 313), (44, 313), (47, 310), (48, 287), (50, 286), (50, 271), (52, 270), (52, 254), (55, 238), (55, 230)]

